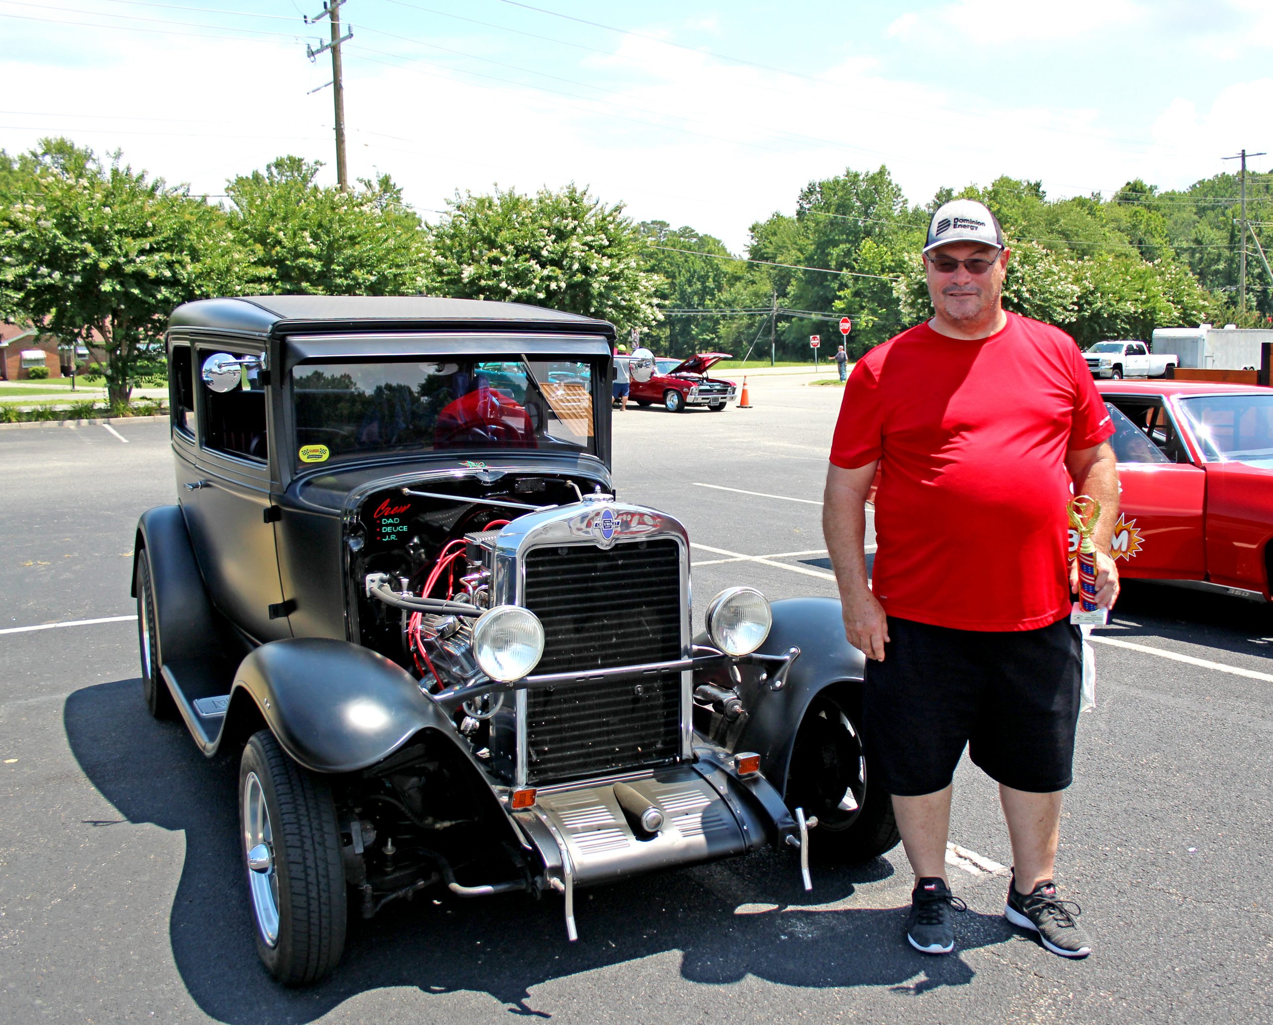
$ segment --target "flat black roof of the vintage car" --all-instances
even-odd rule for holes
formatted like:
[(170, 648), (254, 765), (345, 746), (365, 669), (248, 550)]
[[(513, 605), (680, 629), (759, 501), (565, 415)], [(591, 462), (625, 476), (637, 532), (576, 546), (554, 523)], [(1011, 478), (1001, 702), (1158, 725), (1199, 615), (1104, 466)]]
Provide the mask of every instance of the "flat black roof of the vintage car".
[(252, 295), (200, 299), (172, 312), (168, 328), (204, 328), (257, 334), (443, 328), (554, 331), (605, 334), (606, 320), (522, 303), (444, 299), (430, 295)]

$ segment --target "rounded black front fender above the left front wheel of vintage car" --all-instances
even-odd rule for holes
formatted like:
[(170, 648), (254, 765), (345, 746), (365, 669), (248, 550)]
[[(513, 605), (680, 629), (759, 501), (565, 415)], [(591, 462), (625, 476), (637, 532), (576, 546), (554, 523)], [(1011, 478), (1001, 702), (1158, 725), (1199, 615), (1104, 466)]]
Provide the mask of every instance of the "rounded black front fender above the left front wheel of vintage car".
[(406, 670), (346, 641), (261, 645), (234, 674), (232, 708), (241, 707), (241, 692), (292, 759), (314, 772), (368, 768), (425, 729), (454, 738), (451, 720)]

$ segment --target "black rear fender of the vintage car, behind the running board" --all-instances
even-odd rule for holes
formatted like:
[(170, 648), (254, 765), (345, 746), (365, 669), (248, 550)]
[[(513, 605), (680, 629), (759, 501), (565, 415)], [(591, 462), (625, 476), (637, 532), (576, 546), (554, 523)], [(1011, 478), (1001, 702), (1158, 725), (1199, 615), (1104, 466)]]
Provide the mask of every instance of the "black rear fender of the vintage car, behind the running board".
[(159, 665), (220, 657), (223, 650), (216, 610), (204, 588), (179, 505), (155, 506), (137, 520), (130, 584), (134, 598), (137, 596), (137, 560), (143, 549), (150, 558)]

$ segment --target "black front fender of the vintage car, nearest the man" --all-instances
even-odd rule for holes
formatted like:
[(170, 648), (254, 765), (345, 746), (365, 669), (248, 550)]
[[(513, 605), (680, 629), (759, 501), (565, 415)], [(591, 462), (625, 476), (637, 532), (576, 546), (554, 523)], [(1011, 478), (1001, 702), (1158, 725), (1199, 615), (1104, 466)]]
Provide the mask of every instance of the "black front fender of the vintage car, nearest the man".
[[(760, 646), (763, 655), (783, 655), (791, 647), (801, 650), (780, 689), (770, 689), (773, 666), (761, 680), (764, 666), (740, 665), (742, 682), (735, 684), (728, 671), (712, 674), (713, 683), (736, 685), (747, 710), (747, 722), (733, 743), (735, 752), (760, 755), (760, 771), (778, 790), (787, 792), (796, 731), (810, 702), (826, 687), (848, 683), (861, 692), (866, 656), (844, 636), (840, 603), (834, 598), (784, 598), (773, 603), (774, 624)], [(696, 643), (710, 643), (707, 637)], [(695, 677), (695, 684), (708, 682)]]

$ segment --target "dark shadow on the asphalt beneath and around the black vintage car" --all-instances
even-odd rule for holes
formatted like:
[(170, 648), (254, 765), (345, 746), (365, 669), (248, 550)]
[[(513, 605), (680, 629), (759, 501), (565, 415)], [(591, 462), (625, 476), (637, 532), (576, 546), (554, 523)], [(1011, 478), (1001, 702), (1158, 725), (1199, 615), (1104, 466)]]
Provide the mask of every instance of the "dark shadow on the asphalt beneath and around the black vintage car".
[[(384, 987), (489, 993), (514, 1015), (550, 1017), (531, 1002), (545, 982), (679, 951), (681, 975), (726, 984), (756, 975), (796, 987), (962, 986), (959, 955), (928, 958), (903, 937), (905, 908), (820, 909), (892, 874), (883, 858), (819, 871), (806, 897), (792, 857), (760, 855), (648, 876), (578, 894), (580, 939), (565, 939), (556, 898), (442, 903), (428, 895), (372, 922), (350, 918), (340, 967), (322, 984), (289, 991), (260, 965), (237, 842), (237, 757), (207, 762), (179, 724), (155, 722), (139, 680), (76, 691), (65, 705), (71, 750), (90, 782), (132, 823), (181, 830), (186, 863), (172, 902), (173, 961), (206, 1014), (227, 1022), (308, 1022), (350, 997)], [(722, 898), (721, 891), (728, 891)], [(162, 899), (162, 898), (160, 898)], [(759, 913), (743, 902), (755, 902)], [(791, 907), (796, 905), (796, 907)], [(1008, 940), (1002, 918), (961, 916), (961, 951)]]

